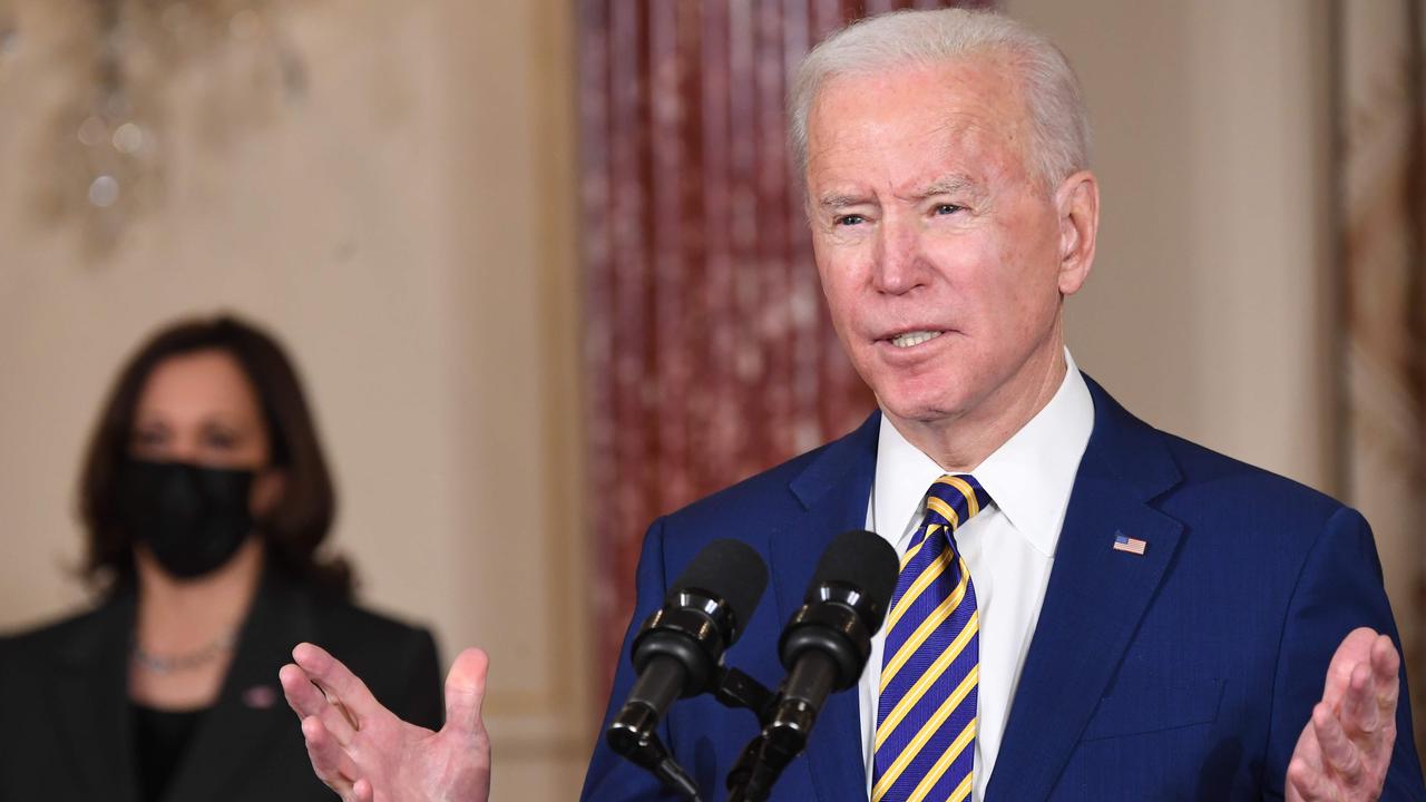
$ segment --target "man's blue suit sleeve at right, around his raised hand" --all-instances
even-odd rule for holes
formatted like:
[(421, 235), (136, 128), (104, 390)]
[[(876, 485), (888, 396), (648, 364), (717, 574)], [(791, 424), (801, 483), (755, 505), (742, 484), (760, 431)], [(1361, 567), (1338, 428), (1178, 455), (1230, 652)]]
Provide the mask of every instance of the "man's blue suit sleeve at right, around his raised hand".
[[(1312, 716), (1312, 708), (1322, 699), (1332, 655), (1348, 632), (1358, 626), (1390, 635), (1397, 652), (1405, 655), (1382, 584), (1382, 564), (1372, 529), (1358, 511), (1339, 508), (1308, 552), (1283, 622), (1263, 778), (1269, 798), (1282, 799), (1288, 761)], [(1405, 659), (1400, 682), (1396, 748), (1382, 799), (1426, 801), (1412, 736)]]

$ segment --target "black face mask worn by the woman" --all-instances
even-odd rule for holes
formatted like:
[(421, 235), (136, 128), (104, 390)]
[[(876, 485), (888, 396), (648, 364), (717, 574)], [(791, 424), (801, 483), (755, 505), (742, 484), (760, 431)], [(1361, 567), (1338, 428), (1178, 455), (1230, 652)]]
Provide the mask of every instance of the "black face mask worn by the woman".
[(124, 531), (168, 574), (193, 579), (225, 565), (254, 531), (251, 469), (128, 460), (120, 475)]

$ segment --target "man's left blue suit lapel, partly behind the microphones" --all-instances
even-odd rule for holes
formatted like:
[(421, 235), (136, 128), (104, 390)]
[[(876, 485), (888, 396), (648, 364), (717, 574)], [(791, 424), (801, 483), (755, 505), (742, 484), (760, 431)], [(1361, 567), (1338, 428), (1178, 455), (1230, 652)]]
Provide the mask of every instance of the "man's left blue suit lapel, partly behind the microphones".
[[(771, 537), (769, 554), (780, 621), (803, 604), (817, 558), (847, 529), (867, 524), (880, 414), (830, 444), (790, 485), (803, 511)], [(807, 743), (807, 766), (821, 802), (866, 799), (861, 712), (856, 688), (823, 705)]]

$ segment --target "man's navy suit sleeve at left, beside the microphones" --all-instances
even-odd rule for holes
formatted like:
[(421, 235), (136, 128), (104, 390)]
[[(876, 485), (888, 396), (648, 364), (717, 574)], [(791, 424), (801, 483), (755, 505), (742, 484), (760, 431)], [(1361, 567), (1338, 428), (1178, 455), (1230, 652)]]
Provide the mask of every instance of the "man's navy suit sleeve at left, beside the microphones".
[[(679, 798), (659, 783), (653, 775), (629, 761), (616, 755), (605, 742), (603, 734), (609, 728), (609, 721), (619, 712), (629, 689), (636, 679), (633, 664), (629, 661), (629, 649), (639, 625), (663, 604), (667, 592), (667, 577), (663, 568), (663, 519), (657, 519), (649, 527), (643, 537), (643, 551), (639, 554), (639, 569), (636, 572), (637, 598), (635, 601), (633, 616), (625, 634), (623, 646), (619, 649), (619, 668), (615, 672), (613, 689), (609, 694), (609, 706), (605, 711), (603, 724), (599, 726), (599, 736), (595, 742), (595, 755), (589, 761), (589, 771), (585, 775), (585, 791), (580, 799), (585, 802), (653, 802), (677, 801)], [(659, 725), (659, 738), (665, 743), (672, 743), (669, 724)]]

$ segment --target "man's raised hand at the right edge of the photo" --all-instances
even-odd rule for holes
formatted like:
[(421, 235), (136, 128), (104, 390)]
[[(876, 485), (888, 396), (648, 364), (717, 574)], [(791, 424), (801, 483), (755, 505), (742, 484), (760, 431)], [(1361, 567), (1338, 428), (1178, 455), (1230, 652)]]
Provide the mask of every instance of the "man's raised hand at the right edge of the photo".
[(1288, 763), (1289, 802), (1360, 802), (1382, 795), (1396, 743), (1400, 655), (1386, 635), (1353, 629), (1332, 655), (1322, 701)]

